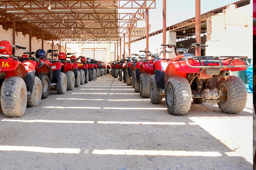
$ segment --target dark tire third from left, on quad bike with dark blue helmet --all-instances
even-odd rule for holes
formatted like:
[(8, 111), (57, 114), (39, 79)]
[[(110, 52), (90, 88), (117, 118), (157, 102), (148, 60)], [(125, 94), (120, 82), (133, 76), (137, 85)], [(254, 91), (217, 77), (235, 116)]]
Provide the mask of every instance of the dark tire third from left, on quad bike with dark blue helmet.
[(36, 76), (41, 80), (42, 83), (42, 98), (45, 99), (50, 93), (51, 83), (49, 77), (45, 73), (37, 73)]

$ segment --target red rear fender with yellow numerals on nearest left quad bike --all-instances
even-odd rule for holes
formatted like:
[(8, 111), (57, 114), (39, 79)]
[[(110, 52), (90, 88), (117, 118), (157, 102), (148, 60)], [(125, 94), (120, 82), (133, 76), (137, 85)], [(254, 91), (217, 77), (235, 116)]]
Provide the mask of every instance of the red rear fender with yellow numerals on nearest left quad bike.
[(0, 59), (0, 78), (26, 77), (24, 64), (18, 60)]

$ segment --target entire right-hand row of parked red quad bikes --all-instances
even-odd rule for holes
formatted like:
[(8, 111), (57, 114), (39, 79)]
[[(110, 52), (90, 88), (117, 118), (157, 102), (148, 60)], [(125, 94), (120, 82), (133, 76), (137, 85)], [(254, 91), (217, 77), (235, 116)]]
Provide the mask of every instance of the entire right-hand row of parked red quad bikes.
[(193, 100), (196, 104), (217, 103), (228, 114), (241, 112), (247, 101), (243, 80), (231, 76), (232, 71), (246, 70), (250, 65), (246, 56), (195, 56), (192, 48), (208, 45), (195, 43), (188, 48), (176, 48), (161, 44), (176, 54), (174, 58), (162, 59), (158, 54), (142, 50), (145, 55), (117, 60), (107, 65), (107, 73), (133, 86), (142, 98), (151, 103), (161, 103), (163, 97), (167, 110), (172, 115), (186, 115)]

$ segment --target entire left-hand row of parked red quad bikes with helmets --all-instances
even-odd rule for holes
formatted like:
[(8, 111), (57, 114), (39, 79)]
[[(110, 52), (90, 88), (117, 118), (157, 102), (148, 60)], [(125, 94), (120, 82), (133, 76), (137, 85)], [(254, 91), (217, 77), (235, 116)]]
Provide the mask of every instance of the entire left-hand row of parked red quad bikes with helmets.
[[(71, 53), (38, 49), (15, 56), (18, 49), (26, 50), (26, 47), (0, 41), (0, 101), (8, 117), (21, 117), (27, 106), (38, 106), (41, 99), (47, 98), (51, 87), (55, 87), (58, 94), (65, 94), (106, 72), (102, 62), (67, 56)], [(56, 58), (47, 58), (48, 55)]]

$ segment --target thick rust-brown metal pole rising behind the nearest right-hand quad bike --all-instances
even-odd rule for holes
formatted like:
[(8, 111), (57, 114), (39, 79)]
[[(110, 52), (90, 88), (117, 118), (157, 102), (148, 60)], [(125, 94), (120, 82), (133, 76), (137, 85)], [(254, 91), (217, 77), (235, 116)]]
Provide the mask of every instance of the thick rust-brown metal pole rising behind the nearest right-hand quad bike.
[[(200, 0), (196, 0), (196, 43), (201, 44), (201, 11)], [(196, 56), (201, 56), (201, 48), (195, 49)]]

